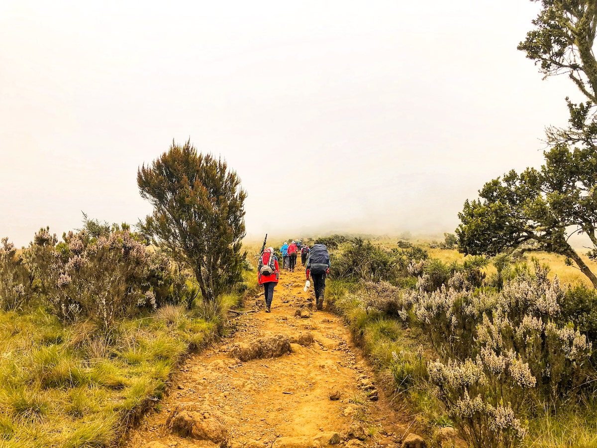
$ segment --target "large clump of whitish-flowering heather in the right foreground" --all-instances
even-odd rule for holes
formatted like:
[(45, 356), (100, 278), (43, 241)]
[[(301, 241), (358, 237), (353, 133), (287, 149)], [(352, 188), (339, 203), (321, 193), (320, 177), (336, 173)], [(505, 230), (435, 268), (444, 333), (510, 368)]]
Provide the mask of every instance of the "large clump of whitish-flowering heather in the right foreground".
[(591, 344), (562, 320), (564, 291), (540, 266), (491, 296), (458, 275), (448, 284), (410, 293), (414, 324), (440, 356), (427, 366), (430, 381), (472, 446), (516, 446), (522, 416), (586, 383)]

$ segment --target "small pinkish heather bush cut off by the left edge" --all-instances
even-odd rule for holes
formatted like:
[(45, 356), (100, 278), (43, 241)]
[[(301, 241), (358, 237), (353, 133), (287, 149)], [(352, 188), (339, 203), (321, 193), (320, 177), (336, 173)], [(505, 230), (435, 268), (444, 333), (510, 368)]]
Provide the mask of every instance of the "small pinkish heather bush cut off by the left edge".
[(20, 308), (29, 293), (29, 270), (17, 248), (8, 238), (2, 238), (0, 247), (0, 308), (5, 311)]

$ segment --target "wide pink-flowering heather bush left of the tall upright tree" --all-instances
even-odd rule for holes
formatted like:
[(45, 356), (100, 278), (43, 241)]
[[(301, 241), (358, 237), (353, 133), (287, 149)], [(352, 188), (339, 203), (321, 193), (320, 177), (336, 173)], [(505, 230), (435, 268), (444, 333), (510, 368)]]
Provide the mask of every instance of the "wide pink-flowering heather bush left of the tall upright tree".
[(68, 232), (61, 243), (49, 228), (35, 234), (24, 251), (33, 290), (61, 320), (91, 318), (106, 328), (140, 308), (155, 309), (189, 296), (186, 276), (174, 272), (170, 258), (147, 251), (137, 234), (123, 228), (98, 237), (87, 229)]

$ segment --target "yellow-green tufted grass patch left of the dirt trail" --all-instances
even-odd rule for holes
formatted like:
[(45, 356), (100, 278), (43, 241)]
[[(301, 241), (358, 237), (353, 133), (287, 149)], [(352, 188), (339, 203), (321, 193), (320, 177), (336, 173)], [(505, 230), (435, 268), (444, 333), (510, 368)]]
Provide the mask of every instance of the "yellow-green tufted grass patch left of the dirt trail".
[(39, 308), (0, 312), (0, 446), (100, 447), (163, 397), (187, 352), (217, 323), (170, 306), (101, 331)]

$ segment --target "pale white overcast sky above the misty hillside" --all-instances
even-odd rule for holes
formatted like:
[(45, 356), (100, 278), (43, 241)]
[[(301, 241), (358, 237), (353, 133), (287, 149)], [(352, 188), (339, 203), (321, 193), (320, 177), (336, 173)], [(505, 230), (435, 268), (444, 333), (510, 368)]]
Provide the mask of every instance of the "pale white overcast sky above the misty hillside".
[(250, 234), (454, 231), (539, 167), (565, 78), (516, 45), (527, 0), (0, 0), (0, 236), (150, 213), (172, 140), (225, 158)]

